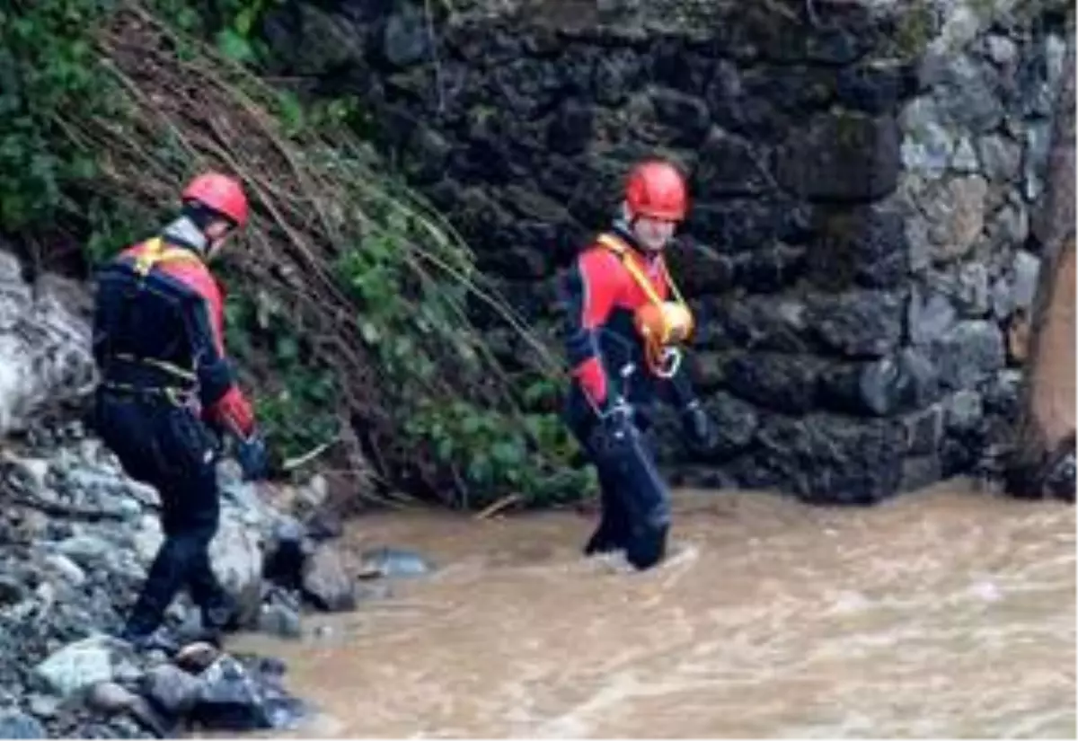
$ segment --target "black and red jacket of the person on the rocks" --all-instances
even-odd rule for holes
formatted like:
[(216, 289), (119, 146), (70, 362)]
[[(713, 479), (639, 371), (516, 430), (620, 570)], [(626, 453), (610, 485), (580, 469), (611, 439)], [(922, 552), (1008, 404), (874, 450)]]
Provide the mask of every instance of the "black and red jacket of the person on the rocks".
[(246, 439), (254, 415), (225, 353), (221, 288), (197, 249), (155, 237), (124, 250), (97, 279), (94, 358), (102, 385), (196, 392), (206, 421)]

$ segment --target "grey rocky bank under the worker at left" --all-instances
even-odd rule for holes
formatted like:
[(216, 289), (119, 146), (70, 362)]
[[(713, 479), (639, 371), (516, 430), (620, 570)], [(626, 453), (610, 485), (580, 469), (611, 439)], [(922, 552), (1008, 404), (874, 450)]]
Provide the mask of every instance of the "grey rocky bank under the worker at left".
[[(0, 252), (0, 739), (174, 738), (195, 726), (291, 727), (314, 710), (270, 657), (201, 642), (183, 595), (167, 641), (136, 653), (112, 639), (161, 543), (156, 491), (126, 478), (84, 429), (94, 370), (85, 289), (23, 280)], [(388, 593), (359, 577), (421, 573), (415, 554), (348, 558), (326, 481), (244, 484), (222, 461), (221, 526), (211, 560), (245, 629), (299, 638), (306, 610), (343, 611)]]

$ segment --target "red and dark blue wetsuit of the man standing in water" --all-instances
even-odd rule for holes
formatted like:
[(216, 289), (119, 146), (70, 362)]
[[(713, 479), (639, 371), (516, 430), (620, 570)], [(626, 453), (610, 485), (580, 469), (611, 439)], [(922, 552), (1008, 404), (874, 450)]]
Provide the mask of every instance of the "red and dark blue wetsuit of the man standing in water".
[[(636, 275), (624, 261), (633, 261)], [(640, 277), (650, 281), (652, 295)], [(668, 378), (657, 375), (634, 326), (637, 310), (655, 297), (667, 300), (672, 288), (662, 255), (649, 257), (617, 225), (577, 257), (564, 283), (573, 376), (565, 418), (595, 464), (602, 490), (599, 525), (584, 550), (624, 550), (638, 569), (663, 558), (669, 530), (669, 493), (646, 435), (648, 407), (666, 401), (692, 417), (692, 434), (709, 433), (685, 366)]]

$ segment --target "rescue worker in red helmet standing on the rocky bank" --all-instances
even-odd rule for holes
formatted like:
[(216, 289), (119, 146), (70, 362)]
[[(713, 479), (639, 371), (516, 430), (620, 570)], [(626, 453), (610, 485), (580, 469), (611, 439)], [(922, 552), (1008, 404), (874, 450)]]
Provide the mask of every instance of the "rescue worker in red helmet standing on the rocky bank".
[(235, 179), (199, 174), (175, 221), (97, 276), (94, 424), (126, 473), (156, 488), (165, 536), (120, 633), (133, 643), (157, 633), (184, 587), (205, 629), (236, 627), (234, 601), (209, 560), (220, 507), (213, 433), (235, 438), (245, 478), (263, 476), (267, 456), (225, 355), (222, 294), (208, 263), (247, 218)]

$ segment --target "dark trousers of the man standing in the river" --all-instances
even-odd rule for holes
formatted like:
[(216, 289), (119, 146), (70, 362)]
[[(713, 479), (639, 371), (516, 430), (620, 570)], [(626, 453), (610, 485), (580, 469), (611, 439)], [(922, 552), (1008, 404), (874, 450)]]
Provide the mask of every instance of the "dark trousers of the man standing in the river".
[(584, 553), (624, 550), (637, 569), (653, 567), (666, 553), (669, 491), (646, 436), (646, 417), (637, 414), (637, 434), (611, 446), (603, 437), (602, 421), (576, 385), (565, 417), (599, 479), (602, 514)]

